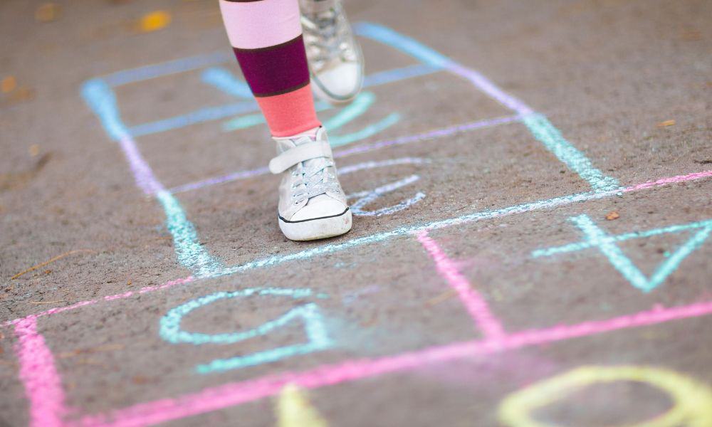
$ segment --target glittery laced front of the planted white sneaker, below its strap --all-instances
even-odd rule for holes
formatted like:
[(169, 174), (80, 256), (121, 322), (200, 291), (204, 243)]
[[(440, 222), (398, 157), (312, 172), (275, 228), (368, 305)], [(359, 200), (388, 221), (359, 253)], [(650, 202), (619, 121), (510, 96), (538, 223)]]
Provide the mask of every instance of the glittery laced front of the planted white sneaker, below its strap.
[(341, 191), (339, 182), (333, 173), (334, 161), (332, 159), (313, 159), (295, 166), (292, 176), (292, 203), (301, 202), (320, 196), (327, 192), (338, 193)]

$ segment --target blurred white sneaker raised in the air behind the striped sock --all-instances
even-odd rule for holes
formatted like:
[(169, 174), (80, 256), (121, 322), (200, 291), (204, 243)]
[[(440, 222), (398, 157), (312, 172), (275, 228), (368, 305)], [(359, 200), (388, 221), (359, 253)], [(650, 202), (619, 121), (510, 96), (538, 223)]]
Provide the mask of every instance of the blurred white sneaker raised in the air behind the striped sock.
[(300, 0), (300, 9), (314, 93), (351, 102), (363, 86), (363, 56), (341, 0)]

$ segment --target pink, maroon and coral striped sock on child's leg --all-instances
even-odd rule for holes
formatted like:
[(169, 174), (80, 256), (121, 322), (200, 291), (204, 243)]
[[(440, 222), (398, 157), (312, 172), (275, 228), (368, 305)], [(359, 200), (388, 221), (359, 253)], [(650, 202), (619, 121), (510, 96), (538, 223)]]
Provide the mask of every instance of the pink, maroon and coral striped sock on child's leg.
[(273, 137), (320, 126), (298, 0), (220, 0), (237, 62)]

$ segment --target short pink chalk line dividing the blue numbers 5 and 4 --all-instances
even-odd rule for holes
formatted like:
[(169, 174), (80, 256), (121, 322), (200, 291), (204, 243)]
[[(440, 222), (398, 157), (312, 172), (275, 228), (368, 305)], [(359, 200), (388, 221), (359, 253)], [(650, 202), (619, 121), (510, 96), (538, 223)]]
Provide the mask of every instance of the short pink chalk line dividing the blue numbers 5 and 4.
[(501, 323), (492, 314), (482, 295), (474, 290), (467, 278), (460, 273), (454, 261), (448, 258), (438, 243), (428, 236), (428, 231), (420, 231), (416, 236), (435, 261), (438, 273), (450, 285), (450, 288), (457, 292), (460, 301), (484, 336), (488, 339), (503, 337), (505, 333)]

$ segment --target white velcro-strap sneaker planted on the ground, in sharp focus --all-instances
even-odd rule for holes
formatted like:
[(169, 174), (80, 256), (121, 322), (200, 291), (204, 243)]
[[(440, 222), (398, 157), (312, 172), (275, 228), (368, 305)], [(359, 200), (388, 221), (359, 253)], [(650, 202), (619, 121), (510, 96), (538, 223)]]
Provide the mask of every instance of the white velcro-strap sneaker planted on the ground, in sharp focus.
[(279, 184), (279, 228), (287, 238), (309, 241), (340, 236), (351, 229), (351, 211), (336, 176), (326, 130), (316, 137), (275, 138), (277, 157), (270, 172)]

